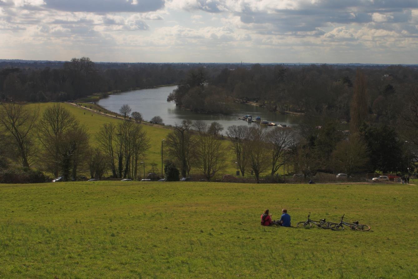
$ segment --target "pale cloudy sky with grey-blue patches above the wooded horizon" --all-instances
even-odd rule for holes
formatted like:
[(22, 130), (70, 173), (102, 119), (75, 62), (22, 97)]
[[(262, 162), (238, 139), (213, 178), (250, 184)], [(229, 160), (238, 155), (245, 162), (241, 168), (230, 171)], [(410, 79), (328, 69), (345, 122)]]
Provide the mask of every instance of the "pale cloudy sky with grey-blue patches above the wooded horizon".
[(0, 0), (0, 59), (418, 64), (418, 0)]

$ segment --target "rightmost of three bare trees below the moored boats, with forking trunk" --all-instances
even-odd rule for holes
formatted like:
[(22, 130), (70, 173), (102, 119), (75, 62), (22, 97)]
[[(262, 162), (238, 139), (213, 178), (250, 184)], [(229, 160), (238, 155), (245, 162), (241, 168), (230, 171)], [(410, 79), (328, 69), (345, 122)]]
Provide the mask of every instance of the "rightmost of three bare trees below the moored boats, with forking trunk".
[(273, 128), (267, 133), (271, 152), (271, 175), (285, 164), (286, 149), (293, 145), (294, 135), (288, 128)]

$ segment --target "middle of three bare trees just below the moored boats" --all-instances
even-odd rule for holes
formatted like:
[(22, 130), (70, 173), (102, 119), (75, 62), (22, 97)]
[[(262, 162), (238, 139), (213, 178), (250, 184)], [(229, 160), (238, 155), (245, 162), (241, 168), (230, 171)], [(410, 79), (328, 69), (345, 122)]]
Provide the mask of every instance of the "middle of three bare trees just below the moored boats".
[(258, 182), (260, 173), (266, 171), (270, 165), (270, 154), (267, 143), (267, 132), (261, 126), (253, 126), (248, 129), (248, 163), (254, 171), (255, 179)]

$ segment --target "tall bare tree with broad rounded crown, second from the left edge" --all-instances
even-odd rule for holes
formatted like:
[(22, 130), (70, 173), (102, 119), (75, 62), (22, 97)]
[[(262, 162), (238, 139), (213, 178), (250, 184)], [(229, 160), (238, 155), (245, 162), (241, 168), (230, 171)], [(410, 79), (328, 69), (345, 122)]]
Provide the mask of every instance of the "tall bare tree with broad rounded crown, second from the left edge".
[(43, 165), (56, 177), (61, 169), (60, 160), (63, 154), (61, 148), (66, 136), (69, 135), (67, 132), (74, 131), (78, 127), (79, 121), (60, 104), (47, 108), (39, 121), (38, 139), (43, 148), (41, 154)]

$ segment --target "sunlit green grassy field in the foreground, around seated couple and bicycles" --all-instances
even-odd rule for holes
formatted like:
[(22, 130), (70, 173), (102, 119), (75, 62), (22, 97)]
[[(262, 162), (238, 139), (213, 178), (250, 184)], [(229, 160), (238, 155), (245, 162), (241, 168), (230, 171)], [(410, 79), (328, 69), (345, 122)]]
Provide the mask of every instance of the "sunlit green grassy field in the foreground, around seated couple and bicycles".
[[(0, 278), (418, 277), (415, 185), (2, 184), (0, 199)], [(283, 207), (292, 228), (260, 225)], [(308, 211), (372, 229), (296, 228)]]

